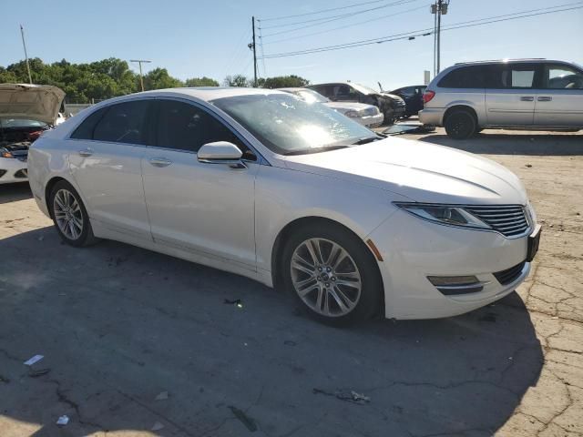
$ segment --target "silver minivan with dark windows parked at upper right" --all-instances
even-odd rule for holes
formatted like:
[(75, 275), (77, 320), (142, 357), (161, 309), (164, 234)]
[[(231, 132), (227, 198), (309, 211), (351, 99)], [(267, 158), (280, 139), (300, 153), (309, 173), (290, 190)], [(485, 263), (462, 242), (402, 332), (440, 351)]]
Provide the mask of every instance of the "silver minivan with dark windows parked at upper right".
[(465, 139), (481, 129), (583, 129), (583, 67), (547, 59), (450, 66), (424, 92), (419, 119)]

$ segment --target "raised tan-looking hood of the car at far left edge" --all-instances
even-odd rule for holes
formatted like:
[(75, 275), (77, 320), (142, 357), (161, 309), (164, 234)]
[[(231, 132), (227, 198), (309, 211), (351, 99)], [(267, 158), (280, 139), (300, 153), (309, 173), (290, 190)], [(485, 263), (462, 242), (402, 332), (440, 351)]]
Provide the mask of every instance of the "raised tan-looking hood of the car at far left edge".
[(54, 125), (65, 98), (50, 85), (0, 84), (0, 117), (27, 118)]

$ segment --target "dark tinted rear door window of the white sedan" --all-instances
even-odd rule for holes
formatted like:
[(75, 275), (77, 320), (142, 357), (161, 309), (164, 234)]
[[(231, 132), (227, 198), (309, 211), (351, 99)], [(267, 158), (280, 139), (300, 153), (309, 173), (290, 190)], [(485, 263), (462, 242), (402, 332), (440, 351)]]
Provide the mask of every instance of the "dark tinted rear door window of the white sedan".
[(109, 107), (107, 114), (97, 123), (93, 139), (116, 143), (148, 144), (148, 124), (146, 123), (148, 106), (148, 100), (138, 100)]

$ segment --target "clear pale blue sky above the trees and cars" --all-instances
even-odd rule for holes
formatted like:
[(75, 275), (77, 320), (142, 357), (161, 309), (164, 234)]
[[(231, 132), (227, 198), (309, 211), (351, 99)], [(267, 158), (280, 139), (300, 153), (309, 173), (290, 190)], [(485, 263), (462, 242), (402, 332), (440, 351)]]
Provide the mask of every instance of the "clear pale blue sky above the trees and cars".
[[(395, 0), (320, 15), (267, 20), (364, 1), (103, 0), (89, 3), (32, 0), (26, 2), (26, 7), (9, 2), (3, 7), (0, 26), (0, 66), (24, 58), (19, 24), (25, 26), (28, 55), (38, 56), (46, 62), (62, 58), (71, 62), (90, 62), (110, 56), (126, 60), (142, 58), (152, 60), (147, 69), (162, 66), (168, 68), (172, 76), (181, 79), (210, 76), (219, 81), (228, 74), (252, 76), (251, 51), (246, 46), (251, 40), (251, 15), (265, 19), (259, 25), (264, 27), (261, 34), (266, 55), (433, 26), (433, 15), (429, 13), (432, 1), (408, 0), (403, 5), (348, 15), (330, 23), (269, 36), (294, 27), (280, 26), (283, 24), (356, 13)], [(571, 3), (575, 0), (451, 0), (449, 13), (444, 15), (444, 25)], [(381, 18), (384, 15), (394, 16)], [(354, 25), (372, 18), (379, 19)], [(276, 27), (267, 28), (272, 25)], [(351, 26), (317, 36), (275, 42), (341, 25)], [(505, 57), (547, 57), (583, 64), (583, 9), (443, 33), (442, 67), (466, 60)], [(259, 66), (260, 76), (295, 74), (310, 79), (312, 83), (348, 79), (373, 87), (380, 81), (384, 88), (389, 89), (423, 82), (423, 71), (433, 69), (433, 36), (315, 55), (266, 59), (264, 67), (261, 61)]]

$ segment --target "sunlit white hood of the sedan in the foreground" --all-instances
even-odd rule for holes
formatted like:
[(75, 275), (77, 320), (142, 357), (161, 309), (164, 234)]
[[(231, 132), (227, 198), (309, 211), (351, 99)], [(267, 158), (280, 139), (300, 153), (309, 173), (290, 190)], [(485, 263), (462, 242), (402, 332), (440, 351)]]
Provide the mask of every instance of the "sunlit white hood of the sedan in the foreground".
[(285, 165), (381, 188), (417, 202), (527, 204), (520, 179), (496, 162), (455, 148), (403, 138), (290, 156)]

